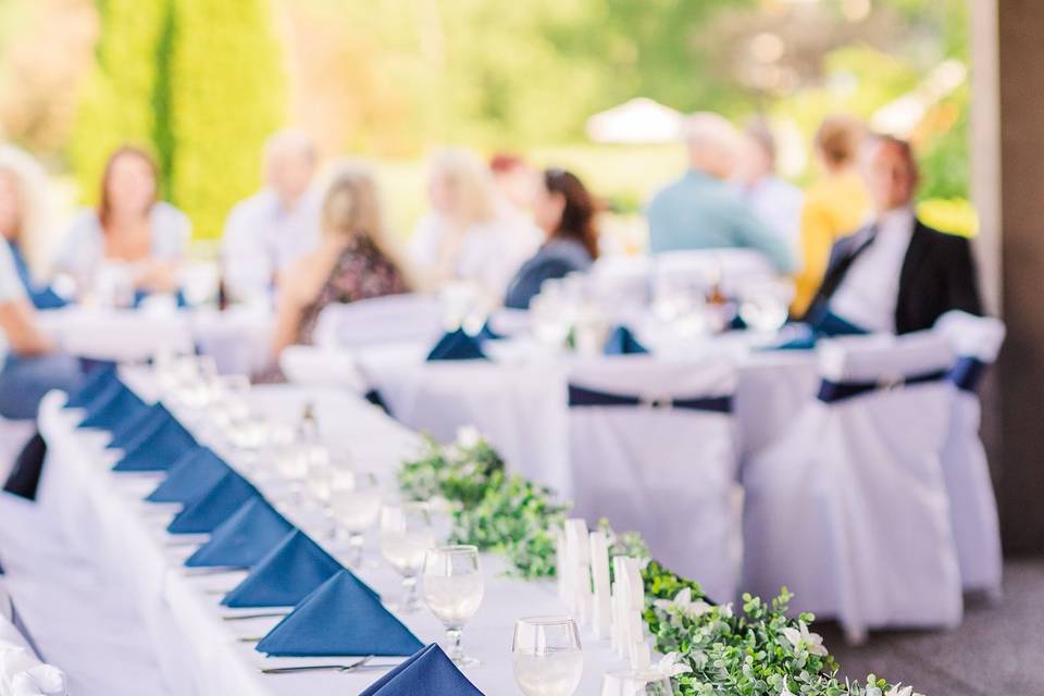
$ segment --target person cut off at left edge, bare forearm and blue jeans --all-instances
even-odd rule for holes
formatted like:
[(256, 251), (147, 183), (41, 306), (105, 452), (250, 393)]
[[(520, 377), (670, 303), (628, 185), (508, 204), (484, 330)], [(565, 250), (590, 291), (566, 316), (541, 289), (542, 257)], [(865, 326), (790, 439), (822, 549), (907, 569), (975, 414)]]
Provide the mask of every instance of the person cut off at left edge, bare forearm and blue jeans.
[(37, 326), (35, 310), (5, 244), (0, 244), (0, 330), (8, 344), (0, 370), (0, 415), (36, 418), (45, 394), (51, 389), (72, 391), (79, 385), (78, 361), (58, 352)]

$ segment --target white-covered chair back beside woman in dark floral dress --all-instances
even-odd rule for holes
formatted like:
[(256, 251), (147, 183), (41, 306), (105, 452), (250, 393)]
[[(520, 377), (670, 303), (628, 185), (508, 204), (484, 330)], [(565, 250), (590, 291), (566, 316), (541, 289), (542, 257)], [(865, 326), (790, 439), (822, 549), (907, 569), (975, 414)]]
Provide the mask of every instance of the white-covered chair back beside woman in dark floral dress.
[(434, 345), (443, 309), (430, 295), (389, 295), (331, 304), (319, 314), (313, 340), (321, 348), (356, 348), (417, 340)]

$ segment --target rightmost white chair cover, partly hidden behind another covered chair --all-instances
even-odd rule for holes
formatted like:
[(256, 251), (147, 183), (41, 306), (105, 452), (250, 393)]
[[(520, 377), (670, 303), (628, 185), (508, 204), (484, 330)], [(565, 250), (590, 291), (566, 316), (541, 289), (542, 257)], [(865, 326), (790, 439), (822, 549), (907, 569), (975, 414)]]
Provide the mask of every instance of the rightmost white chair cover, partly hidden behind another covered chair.
[[(992, 318), (954, 311), (941, 316), (935, 326), (950, 341), (958, 361), (992, 364), (1004, 343), (1004, 323)], [(974, 385), (967, 386), (955, 389), (943, 450), (950, 523), (965, 589), (999, 593), (1003, 560), (997, 501), (986, 451), (979, 438), (981, 405)]]

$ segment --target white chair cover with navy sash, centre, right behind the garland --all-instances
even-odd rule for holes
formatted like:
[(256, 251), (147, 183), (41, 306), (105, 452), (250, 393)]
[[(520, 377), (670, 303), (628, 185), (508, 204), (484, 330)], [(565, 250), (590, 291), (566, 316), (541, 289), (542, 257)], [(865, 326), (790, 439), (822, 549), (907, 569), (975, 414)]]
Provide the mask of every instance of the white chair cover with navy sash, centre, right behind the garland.
[[(732, 397), (725, 359), (698, 366), (649, 357), (576, 365), (573, 386), (652, 400)], [(575, 513), (635, 530), (651, 555), (718, 601), (736, 594), (739, 520), (730, 412), (679, 406), (571, 406)]]

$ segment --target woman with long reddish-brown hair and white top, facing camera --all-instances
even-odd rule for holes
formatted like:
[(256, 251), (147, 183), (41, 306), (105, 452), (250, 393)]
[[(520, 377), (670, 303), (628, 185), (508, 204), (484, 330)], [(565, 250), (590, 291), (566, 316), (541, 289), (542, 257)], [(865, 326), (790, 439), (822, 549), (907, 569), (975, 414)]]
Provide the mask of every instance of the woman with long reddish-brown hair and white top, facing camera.
[(57, 269), (73, 274), (80, 291), (104, 266), (125, 268), (138, 293), (177, 289), (177, 264), (191, 225), (159, 200), (159, 170), (145, 150), (124, 146), (105, 164), (98, 208), (73, 220)]

